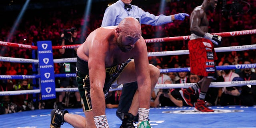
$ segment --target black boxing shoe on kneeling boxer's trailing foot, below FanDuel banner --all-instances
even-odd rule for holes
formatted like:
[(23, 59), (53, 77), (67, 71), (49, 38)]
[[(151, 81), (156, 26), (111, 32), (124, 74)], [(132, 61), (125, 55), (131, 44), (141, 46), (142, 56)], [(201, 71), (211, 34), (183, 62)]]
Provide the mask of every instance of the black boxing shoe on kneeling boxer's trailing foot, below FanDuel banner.
[(68, 113), (67, 110), (59, 110), (57, 108), (51, 111), (51, 124), (50, 128), (60, 128), (60, 126), (65, 122), (64, 114)]

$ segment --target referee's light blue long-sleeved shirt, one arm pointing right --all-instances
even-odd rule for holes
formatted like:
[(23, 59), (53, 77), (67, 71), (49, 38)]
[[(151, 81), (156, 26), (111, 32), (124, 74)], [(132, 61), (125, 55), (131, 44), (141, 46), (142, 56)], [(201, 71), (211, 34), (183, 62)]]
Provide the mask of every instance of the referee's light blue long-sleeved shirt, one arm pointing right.
[(172, 22), (171, 16), (165, 16), (162, 14), (155, 16), (149, 12), (145, 12), (135, 5), (132, 5), (132, 9), (130, 10), (129, 8), (125, 9), (124, 3), (121, 0), (118, 0), (116, 3), (106, 8), (101, 26), (116, 26), (121, 22), (122, 19), (128, 16), (136, 18), (139, 20), (140, 24), (150, 24), (152, 26)]

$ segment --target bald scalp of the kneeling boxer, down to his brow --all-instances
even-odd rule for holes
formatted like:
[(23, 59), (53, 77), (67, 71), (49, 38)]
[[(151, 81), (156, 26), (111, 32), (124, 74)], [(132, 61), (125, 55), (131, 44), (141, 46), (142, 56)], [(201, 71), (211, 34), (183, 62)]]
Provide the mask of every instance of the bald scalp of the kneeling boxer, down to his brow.
[(121, 32), (126, 32), (127, 34), (129, 34), (130, 36), (133, 36), (134, 38), (141, 37), (140, 22), (138, 22), (138, 20), (133, 17), (124, 18), (118, 24), (118, 28), (121, 30)]

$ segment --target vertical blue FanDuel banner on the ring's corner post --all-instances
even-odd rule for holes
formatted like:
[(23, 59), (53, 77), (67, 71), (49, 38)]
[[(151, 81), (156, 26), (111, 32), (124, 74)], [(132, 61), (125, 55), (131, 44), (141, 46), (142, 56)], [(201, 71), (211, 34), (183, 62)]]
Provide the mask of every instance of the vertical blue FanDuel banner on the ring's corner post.
[(52, 42), (38, 41), (37, 47), (42, 100), (56, 98)]

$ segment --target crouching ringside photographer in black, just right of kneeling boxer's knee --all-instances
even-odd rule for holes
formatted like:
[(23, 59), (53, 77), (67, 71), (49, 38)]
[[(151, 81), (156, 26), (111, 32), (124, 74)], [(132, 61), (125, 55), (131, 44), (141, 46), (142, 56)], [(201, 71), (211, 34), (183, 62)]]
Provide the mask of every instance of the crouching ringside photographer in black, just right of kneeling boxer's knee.
[[(172, 84), (172, 81), (166, 80), (164, 84)], [(175, 89), (160, 89), (154, 100), (155, 108), (164, 106), (178, 106), (182, 107), (182, 97), (180, 92)]]

